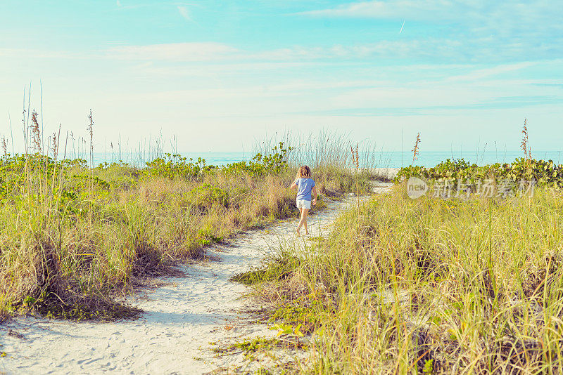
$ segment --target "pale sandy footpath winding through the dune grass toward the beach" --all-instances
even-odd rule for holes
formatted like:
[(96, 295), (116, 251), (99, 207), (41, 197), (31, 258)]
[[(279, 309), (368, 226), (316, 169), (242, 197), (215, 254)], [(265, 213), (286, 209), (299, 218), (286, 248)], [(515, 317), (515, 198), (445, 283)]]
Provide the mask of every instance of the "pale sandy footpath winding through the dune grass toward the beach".
[[(329, 232), (350, 202), (355, 200), (331, 202), (312, 216), (312, 235)], [(208, 254), (220, 261), (185, 266), (187, 277), (166, 279), (163, 287), (127, 298), (144, 310), (139, 320), (94, 323), (25, 317), (0, 326), (0, 351), (7, 354), (0, 358), (0, 373), (204, 374), (243, 362), (241, 355), (219, 359), (210, 350), (210, 342), (265, 330), (263, 325), (243, 324), (248, 317), (239, 312), (246, 302), (239, 297), (248, 289), (229, 278), (260, 265), (280, 242), (296, 241), (295, 225), (284, 221), (241, 235), (233, 246), (210, 248)], [(234, 328), (226, 329), (227, 323)]]

